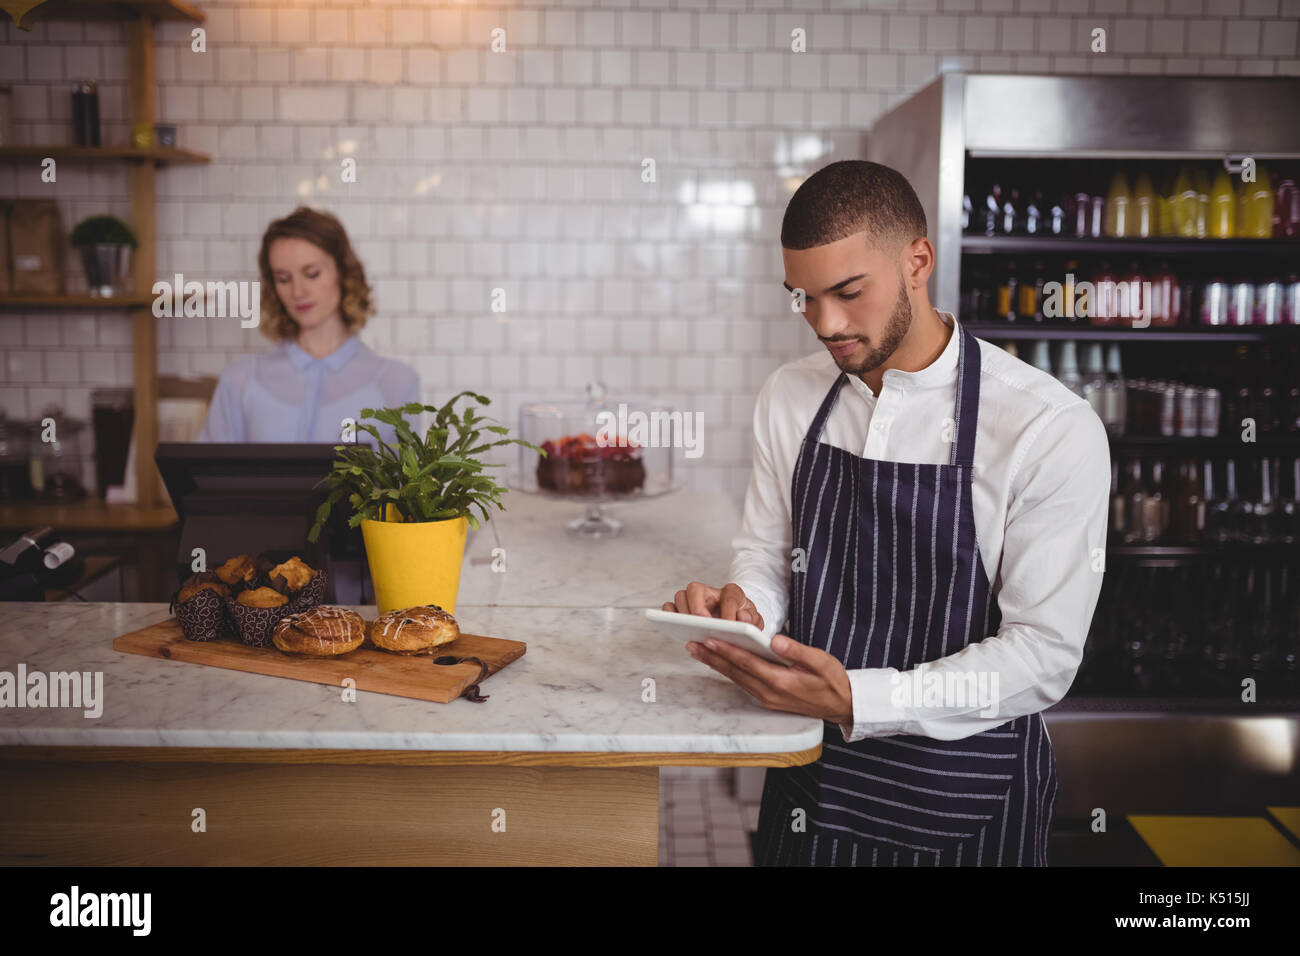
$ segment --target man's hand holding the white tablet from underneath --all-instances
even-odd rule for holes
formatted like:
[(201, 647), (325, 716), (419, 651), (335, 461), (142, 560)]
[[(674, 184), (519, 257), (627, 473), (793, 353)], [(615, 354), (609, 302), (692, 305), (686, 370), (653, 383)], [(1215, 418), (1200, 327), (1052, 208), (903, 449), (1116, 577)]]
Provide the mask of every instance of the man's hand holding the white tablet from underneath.
[(792, 667), (764, 661), (758, 654), (714, 637), (690, 641), (686, 650), (723, 676), (740, 684), (768, 710), (820, 717), (832, 723), (853, 723), (853, 687), (849, 672), (824, 650), (772, 636), (772, 650), (792, 661)]

